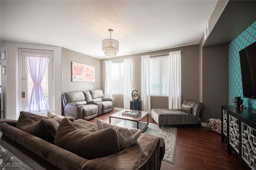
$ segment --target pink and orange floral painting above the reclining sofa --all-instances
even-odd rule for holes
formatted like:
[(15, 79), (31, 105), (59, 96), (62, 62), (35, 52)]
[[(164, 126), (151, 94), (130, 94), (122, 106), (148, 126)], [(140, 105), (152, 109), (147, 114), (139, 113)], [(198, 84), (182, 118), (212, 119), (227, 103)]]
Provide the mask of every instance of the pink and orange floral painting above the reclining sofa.
[(72, 81), (95, 82), (95, 66), (72, 62)]

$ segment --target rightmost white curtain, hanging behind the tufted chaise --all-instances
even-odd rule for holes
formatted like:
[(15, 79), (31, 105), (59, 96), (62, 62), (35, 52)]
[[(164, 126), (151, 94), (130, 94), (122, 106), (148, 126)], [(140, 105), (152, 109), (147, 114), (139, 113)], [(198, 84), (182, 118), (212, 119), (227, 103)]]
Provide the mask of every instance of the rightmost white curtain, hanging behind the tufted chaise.
[(169, 53), (170, 77), (169, 77), (169, 109), (181, 107), (181, 51)]

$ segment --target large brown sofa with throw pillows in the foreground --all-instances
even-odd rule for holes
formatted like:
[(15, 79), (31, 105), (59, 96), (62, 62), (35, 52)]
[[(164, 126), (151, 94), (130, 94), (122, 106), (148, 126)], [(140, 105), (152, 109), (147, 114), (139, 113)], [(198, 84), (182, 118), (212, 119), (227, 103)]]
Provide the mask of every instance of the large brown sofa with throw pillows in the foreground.
[[(26, 148), (35, 156), (41, 157), (42, 161), (46, 160), (52, 164), (54, 168), (51, 169), (160, 170), (165, 152), (164, 140), (161, 137), (142, 133), (135, 144), (124, 150), (114, 150), (112, 153), (114, 145), (110, 144), (114, 143), (115, 146), (119, 144), (114, 128), (97, 130), (95, 123), (83, 119), (74, 121), (63, 117), (62, 120), (60, 118), (56, 120), (26, 112), (21, 112), (18, 121), (0, 119), (0, 130), (3, 134), (1, 144), (12, 140), (16, 143), (16, 147), (19, 144), (18, 149), (24, 152)], [(77, 136), (79, 134), (80, 137)], [(77, 143), (78, 141), (80, 144)], [(84, 154), (88, 158), (85, 158)]]

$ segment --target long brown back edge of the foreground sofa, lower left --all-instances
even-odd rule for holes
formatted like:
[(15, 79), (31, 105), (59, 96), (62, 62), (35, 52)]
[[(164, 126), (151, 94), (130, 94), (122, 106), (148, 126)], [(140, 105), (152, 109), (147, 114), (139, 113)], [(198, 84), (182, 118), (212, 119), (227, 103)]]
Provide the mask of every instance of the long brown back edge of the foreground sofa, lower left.
[[(80, 170), (88, 160), (32, 134), (9, 125), (17, 121), (1, 119), (0, 130), (10, 140), (21, 145), (62, 170)], [(2, 140), (2, 139), (1, 139)]]

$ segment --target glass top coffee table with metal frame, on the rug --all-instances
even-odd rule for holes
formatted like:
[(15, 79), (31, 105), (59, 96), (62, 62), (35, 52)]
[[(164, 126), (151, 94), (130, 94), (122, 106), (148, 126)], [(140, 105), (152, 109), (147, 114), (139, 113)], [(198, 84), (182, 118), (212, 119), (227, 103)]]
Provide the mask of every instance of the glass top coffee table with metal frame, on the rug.
[[(132, 114), (129, 115), (128, 113), (134, 113), (134, 114), (138, 113), (138, 115), (133, 116)], [(144, 117), (147, 117), (147, 122), (141, 121)], [(120, 127), (138, 128), (142, 132), (144, 132), (148, 127), (148, 112), (144, 112), (144, 111), (133, 111), (133, 110), (123, 109), (119, 112), (114, 113), (113, 115), (110, 115), (109, 123), (111, 123), (111, 118), (122, 119), (123, 121), (116, 124)]]

